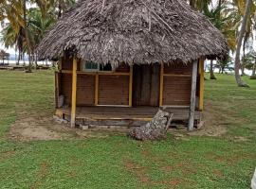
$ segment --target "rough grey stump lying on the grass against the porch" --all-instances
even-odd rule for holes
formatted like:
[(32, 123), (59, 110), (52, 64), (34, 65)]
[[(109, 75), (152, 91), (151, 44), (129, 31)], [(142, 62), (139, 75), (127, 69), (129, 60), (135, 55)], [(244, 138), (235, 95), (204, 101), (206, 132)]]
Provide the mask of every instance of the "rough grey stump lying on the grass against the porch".
[(173, 115), (174, 113), (159, 110), (151, 122), (140, 128), (131, 129), (128, 135), (141, 141), (161, 139), (166, 135)]

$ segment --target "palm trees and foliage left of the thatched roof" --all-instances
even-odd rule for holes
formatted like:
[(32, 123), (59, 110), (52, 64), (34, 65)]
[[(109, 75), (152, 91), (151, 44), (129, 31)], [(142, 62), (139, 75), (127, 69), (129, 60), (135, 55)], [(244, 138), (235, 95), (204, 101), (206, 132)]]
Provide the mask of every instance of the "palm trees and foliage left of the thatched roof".
[(0, 22), (2, 43), (6, 48), (18, 51), (18, 60), (28, 55), (28, 70), (37, 66), (36, 47), (43, 39), (46, 30), (60, 18), (65, 9), (75, 0), (2, 0), (0, 1)]

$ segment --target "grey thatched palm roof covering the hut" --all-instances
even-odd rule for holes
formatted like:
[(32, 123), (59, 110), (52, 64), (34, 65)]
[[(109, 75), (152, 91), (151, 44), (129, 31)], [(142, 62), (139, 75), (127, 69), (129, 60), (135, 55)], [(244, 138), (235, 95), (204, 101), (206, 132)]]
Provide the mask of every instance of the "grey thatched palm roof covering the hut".
[(185, 0), (80, 0), (38, 47), (40, 59), (65, 50), (96, 62), (151, 63), (223, 58), (229, 48)]

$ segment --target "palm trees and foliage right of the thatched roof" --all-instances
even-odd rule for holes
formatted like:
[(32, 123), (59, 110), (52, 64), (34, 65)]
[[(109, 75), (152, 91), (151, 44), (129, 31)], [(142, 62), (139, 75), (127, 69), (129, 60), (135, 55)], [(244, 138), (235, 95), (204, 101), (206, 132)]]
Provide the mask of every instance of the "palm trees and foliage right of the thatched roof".
[(230, 54), (235, 55), (234, 60), (229, 56), (227, 60), (217, 60), (215, 65), (213, 60), (210, 60), (210, 79), (216, 79), (214, 68), (219, 68), (220, 73), (224, 73), (226, 69), (234, 69), (238, 86), (248, 87), (242, 80), (240, 71), (242, 76), (245, 76), (245, 69), (251, 70), (251, 78), (255, 78), (256, 52), (252, 47), (253, 32), (256, 28), (255, 1), (190, 0), (189, 3), (193, 9), (208, 16), (211, 23), (222, 31), (229, 43)]

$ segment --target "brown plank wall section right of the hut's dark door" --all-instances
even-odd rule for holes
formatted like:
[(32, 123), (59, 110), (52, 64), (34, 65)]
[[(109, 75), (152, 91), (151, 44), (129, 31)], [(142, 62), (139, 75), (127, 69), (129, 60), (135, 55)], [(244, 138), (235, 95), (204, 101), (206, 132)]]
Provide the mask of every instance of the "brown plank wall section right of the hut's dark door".
[(192, 63), (164, 65), (164, 106), (190, 106), (192, 89)]

